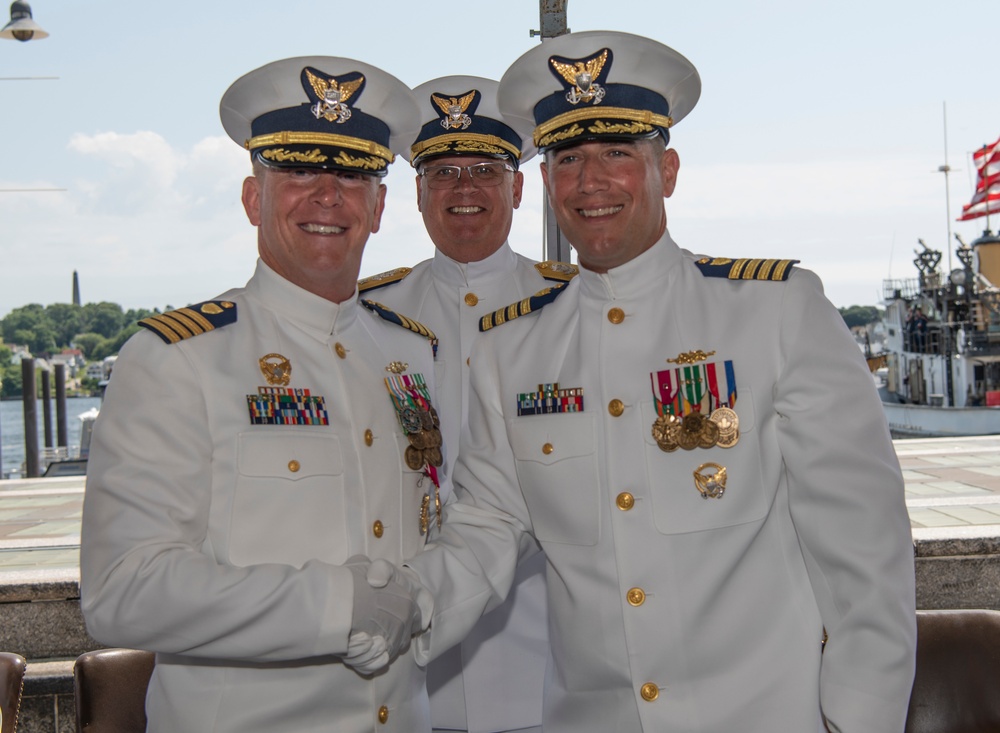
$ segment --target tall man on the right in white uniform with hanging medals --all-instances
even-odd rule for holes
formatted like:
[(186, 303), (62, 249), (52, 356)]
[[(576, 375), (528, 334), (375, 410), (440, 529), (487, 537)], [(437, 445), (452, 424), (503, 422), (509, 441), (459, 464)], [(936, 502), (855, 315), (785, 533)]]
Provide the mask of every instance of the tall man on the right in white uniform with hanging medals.
[(815, 275), (670, 237), (665, 142), (700, 88), (611, 32), (501, 80), (580, 274), (477, 342), (459, 500), (398, 574), (435, 595), (419, 651), (462, 638), (537, 539), (546, 733), (900, 733), (913, 548), (885, 418)]

